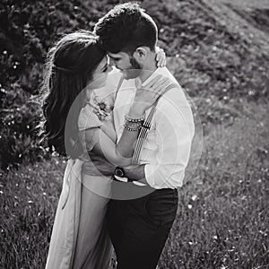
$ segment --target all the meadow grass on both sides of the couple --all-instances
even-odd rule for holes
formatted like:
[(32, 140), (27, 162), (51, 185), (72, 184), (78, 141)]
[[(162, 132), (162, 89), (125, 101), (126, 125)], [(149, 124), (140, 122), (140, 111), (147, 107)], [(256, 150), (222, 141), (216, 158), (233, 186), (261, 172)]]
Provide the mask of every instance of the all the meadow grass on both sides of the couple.
[[(159, 268), (269, 266), (268, 108), (244, 108), (232, 123), (208, 126)], [(44, 268), (64, 169), (54, 157), (1, 176), (1, 268)]]

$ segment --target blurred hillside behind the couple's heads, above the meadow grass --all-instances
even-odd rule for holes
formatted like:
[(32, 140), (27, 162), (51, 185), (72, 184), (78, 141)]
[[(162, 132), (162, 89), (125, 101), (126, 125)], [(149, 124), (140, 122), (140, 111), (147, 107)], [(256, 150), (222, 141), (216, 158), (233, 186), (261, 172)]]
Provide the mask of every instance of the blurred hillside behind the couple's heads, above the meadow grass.
[[(242, 100), (268, 99), (268, 7), (237, 3), (142, 1), (158, 24), (169, 68), (194, 99), (204, 126), (236, 117), (244, 107)], [(114, 4), (117, 1), (1, 2), (2, 168), (47, 154), (46, 144), (40, 147), (36, 138), (39, 105), (30, 97), (39, 93), (48, 48), (65, 32), (92, 29)]]

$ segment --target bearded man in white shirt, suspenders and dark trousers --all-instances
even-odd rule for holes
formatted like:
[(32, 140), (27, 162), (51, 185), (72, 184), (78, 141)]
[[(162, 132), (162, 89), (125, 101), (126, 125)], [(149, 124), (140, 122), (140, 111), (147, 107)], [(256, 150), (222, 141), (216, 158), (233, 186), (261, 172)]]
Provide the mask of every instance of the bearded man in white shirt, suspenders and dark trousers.
[(117, 179), (131, 181), (115, 181), (108, 206), (108, 230), (118, 269), (151, 269), (158, 264), (176, 217), (178, 187), (194, 136), (192, 111), (184, 92), (166, 67), (156, 67), (157, 31), (152, 18), (132, 3), (117, 5), (95, 26), (101, 46), (124, 78), (118, 83), (113, 110), (117, 139), (134, 100), (135, 86), (143, 87), (158, 74), (168, 77), (172, 85), (157, 103), (148, 135), (136, 155), (139, 165), (115, 170)]

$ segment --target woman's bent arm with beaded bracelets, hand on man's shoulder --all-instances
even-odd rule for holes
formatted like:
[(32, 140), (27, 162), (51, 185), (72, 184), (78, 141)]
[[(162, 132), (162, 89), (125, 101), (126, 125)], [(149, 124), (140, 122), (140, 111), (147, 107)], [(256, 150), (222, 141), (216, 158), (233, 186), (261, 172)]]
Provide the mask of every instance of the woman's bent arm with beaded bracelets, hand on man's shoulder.
[[(144, 112), (152, 107), (152, 104), (165, 91), (168, 84), (169, 79), (157, 75), (143, 88), (136, 90), (134, 103), (129, 110), (123, 134), (117, 144), (114, 140), (116, 135), (114, 134), (114, 137), (113, 135), (109, 135), (112, 133), (108, 131), (108, 127), (106, 126), (82, 131), (82, 144), (86, 146), (88, 151), (95, 152), (114, 165), (121, 167), (130, 165), (139, 132), (137, 126), (142, 125), (142, 121), (135, 123), (132, 122), (132, 119), (142, 118)], [(92, 143), (93, 141), (94, 143)]]

